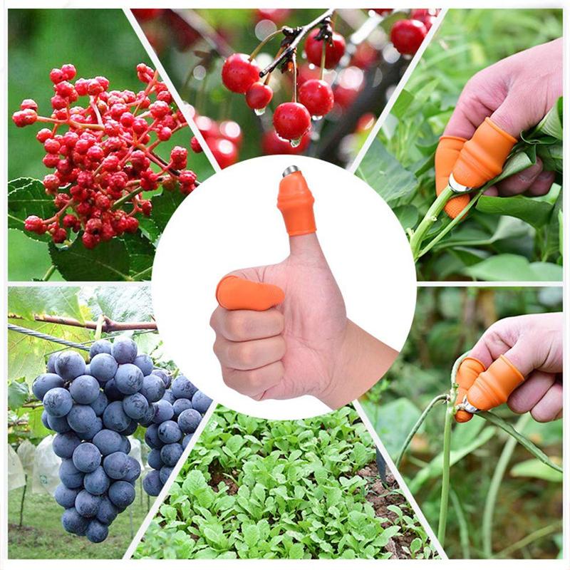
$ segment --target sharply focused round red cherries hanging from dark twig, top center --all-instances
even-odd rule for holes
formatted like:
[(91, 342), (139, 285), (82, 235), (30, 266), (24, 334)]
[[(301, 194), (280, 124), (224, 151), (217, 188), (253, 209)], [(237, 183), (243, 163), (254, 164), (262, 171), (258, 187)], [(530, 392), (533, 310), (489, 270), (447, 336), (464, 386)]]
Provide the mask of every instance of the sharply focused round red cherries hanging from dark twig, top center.
[[(311, 30), (304, 44), (307, 61), (319, 67), (322, 63), (327, 69), (335, 68), (345, 51), (343, 36), (329, 26)], [(295, 61), (289, 62), (289, 67), (294, 66)], [(224, 86), (234, 93), (245, 95), (247, 105), (258, 115), (265, 112), (273, 98), (273, 90), (268, 84), (269, 74), (264, 81), (260, 81), (260, 75), (261, 70), (254, 58), (245, 53), (229, 56), (222, 67)], [(296, 93), (296, 87), (294, 100), (278, 105), (273, 115), (276, 136), (289, 141), (291, 147), (302, 144), (304, 135), (311, 129), (311, 117), (313, 120), (322, 118), (331, 112), (335, 102), (331, 86), (322, 77), (304, 81), (299, 93)]]

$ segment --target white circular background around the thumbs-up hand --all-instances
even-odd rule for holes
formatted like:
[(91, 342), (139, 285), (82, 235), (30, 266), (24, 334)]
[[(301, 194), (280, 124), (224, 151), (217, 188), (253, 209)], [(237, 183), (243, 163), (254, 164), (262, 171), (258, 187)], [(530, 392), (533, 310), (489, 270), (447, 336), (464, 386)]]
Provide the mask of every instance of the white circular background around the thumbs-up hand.
[(289, 255), (276, 207), (281, 173), (301, 168), (315, 197), (319, 242), (348, 318), (400, 351), (415, 309), (415, 267), (400, 222), (363, 180), (315, 158), (276, 155), (239, 162), (202, 182), (160, 238), (152, 302), (165, 350), (204, 393), (241, 413), (295, 420), (327, 413), (312, 396), (257, 402), (228, 388), (212, 346), (209, 318), (219, 279)]

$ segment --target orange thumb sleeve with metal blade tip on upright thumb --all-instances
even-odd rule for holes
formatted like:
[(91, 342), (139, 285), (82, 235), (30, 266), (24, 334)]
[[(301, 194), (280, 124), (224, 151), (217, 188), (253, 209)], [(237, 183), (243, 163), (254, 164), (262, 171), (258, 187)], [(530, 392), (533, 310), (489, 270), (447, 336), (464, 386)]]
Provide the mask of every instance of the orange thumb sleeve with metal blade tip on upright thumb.
[(277, 207), (283, 214), (285, 227), (290, 236), (316, 232), (314, 202), (315, 199), (301, 170), (296, 166), (287, 168), (279, 182)]

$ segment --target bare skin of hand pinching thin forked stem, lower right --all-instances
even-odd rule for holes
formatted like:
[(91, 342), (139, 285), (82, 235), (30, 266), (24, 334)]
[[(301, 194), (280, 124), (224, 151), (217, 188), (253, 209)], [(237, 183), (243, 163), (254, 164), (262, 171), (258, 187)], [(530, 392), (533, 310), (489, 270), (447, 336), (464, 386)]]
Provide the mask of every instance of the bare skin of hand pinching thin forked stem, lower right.
[(490, 326), (470, 351), (469, 356), (485, 368), (504, 355), (524, 375), (526, 380), (507, 400), (515, 413), (530, 412), (539, 422), (561, 418), (563, 322), (561, 313), (504, 318)]

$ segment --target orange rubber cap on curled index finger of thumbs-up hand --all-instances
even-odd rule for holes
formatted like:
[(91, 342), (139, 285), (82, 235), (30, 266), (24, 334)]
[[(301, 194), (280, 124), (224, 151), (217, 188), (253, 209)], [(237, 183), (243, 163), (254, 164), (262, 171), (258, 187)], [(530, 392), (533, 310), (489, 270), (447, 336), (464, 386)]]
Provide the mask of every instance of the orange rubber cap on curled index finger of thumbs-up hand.
[(250, 311), (266, 311), (283, 303), (285, 293), (281, 287), (267, 283), (249, 281), (235, 275), (227, 275), (216, 287), (218, 303), (228, 309), (249, 309)]

